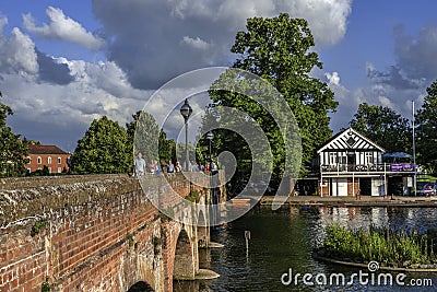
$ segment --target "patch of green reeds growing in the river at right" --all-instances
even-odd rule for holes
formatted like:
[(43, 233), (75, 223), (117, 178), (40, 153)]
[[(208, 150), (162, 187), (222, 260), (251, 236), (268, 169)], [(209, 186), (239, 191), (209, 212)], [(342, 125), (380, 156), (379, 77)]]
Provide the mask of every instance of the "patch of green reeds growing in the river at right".
[(323, 248), (328, 255), (353, 261), (377, 260), (386, 265), (411, 266), (437, 262), (434, 243), (437, 231), (420, 234), (417, 231), (391, 229), (352, 230), (338, 224), (326, 229)]

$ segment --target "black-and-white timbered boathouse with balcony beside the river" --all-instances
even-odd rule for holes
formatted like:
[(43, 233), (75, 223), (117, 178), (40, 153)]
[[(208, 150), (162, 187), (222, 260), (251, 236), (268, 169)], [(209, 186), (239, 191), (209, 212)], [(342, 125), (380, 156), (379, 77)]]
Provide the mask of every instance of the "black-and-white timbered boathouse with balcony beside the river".
[(352, 128), (317, 150), (320, 196), (410, 195), (414, 164), (383, 161), (386, 150)]

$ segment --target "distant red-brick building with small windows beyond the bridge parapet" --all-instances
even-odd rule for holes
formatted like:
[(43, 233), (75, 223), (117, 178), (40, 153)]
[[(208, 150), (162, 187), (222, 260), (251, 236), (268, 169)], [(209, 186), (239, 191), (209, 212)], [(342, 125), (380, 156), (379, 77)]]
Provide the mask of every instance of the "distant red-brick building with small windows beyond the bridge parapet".
[(67, 173), (69, 171), (69, 160), (71, 154), (56, 145), (28, 145), (29, 162), (24, 165), (27, 173), (43, 170), (46, 165), (49, 173)]

